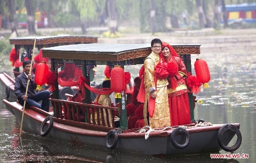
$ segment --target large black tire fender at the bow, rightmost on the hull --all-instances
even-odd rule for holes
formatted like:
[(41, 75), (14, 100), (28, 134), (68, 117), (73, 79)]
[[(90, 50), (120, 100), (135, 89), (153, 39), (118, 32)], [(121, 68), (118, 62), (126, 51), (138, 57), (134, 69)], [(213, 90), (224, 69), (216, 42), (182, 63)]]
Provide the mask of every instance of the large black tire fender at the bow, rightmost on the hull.
[[(224, 142), (223, 142), (223, 135), (224, 135), (224, 132), (226, 132), (227, 130), (232, 130), (237, 134), (237, 142), (232, 147), (227, 147), (226, 145), (224, 145)], [(232, 151), (236, 151), (240, 147), (242, 143), (242, 134), (236, 126), (232, 124), (225, 124), (219, 129), (217, 140), (218, 140), (218, 144), (221, 146), (223, 150), (227, 152), (232, 152)]]

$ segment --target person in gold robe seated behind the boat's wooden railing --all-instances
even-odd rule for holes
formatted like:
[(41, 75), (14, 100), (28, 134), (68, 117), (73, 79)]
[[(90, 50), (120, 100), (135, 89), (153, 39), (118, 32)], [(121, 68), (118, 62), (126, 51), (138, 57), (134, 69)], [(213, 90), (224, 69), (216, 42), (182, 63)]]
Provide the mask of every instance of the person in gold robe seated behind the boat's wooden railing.
[[(103, 89), (104, 88), (110, 88), (110, 87), (111, 87), (111, 81), (110, 80), (104, 80), (102, 82), (102, 88)], [(94, 100), (94, 103), (102, 105), (102, 106), (113, 106), (112, 103), (111, 103), (110, 95), (111, 94), (98, 95), (98, 96), (96, 96), (96, 98)], [(104, 117), (106, 117), (105, 110), (103, 110), (103, 113), (104, 113)], [(95, 115), (96, 115), (96, 113), (95, 113)], [(109, 112), (109, 117), (112, 117), (111, 112)], [(105, 120), (105, 124), (106, 124), (106, 119), (104, 119), (104, 120)], [(120, 119), (117, 116), (114, 117), (115, 127), (119, 127), (119, 125), (120, 125), (119, 120)], [(95, 116), (95, 121), (97, 123), (96, 116)], [(110, 121), (112, 121), (112, 120), (110, 120)], [(110, 122), (110, 125), (111, 125), (111, 127), (113, 127), (111, 122)]]

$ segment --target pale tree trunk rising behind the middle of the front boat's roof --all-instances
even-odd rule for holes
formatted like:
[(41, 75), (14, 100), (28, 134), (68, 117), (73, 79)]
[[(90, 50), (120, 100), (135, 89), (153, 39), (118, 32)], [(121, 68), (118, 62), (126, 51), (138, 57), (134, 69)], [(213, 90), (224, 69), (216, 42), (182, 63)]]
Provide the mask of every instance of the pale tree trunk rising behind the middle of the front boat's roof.
[(109, 28), (110, 32), (115, 34), (117, 31), (117, 14), (115, 0), (106, 0), (109, 15)]

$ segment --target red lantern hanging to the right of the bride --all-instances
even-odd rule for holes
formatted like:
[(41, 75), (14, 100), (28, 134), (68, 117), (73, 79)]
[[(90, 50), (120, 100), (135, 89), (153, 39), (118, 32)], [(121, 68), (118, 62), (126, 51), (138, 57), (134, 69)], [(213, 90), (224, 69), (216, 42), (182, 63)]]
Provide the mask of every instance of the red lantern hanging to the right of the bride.
[(210, 71), (205, 60), (198, 58), (195, 62), (195, 72), (200, 83), (203, 83), (203, 88), (208, 88), (210, 81)]

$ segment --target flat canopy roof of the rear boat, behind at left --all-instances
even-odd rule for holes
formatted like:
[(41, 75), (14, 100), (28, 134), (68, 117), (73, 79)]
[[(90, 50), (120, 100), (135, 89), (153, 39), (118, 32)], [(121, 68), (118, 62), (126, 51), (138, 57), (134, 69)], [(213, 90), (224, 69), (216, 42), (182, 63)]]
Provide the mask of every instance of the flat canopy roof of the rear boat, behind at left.
[(36, 45), (47, 45), (54, 43), (75, 44), (75, 43), (97, 43), (98, 37), (92, 36), (37, 36), (37, 37), (19, 37), (10, 38), (10, 44), (15, 45), (34, 45), (36, 38)]

